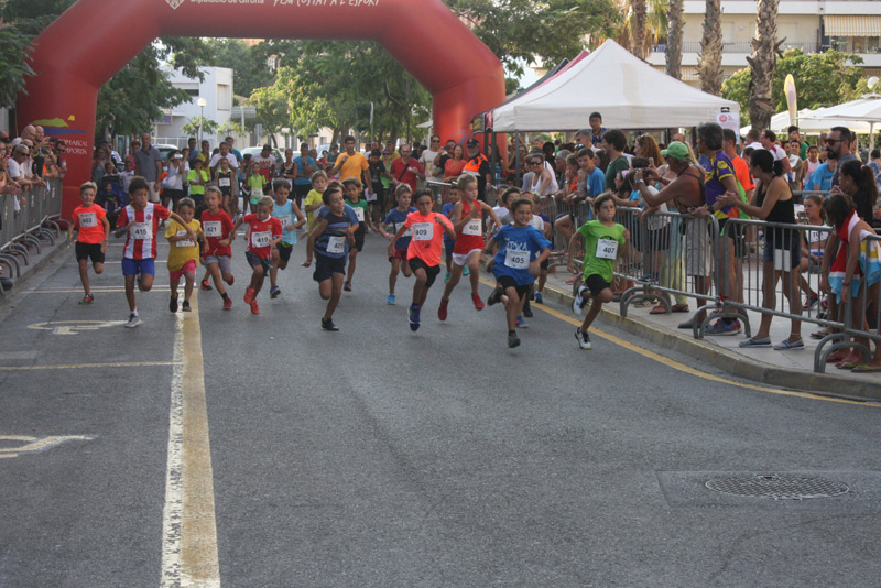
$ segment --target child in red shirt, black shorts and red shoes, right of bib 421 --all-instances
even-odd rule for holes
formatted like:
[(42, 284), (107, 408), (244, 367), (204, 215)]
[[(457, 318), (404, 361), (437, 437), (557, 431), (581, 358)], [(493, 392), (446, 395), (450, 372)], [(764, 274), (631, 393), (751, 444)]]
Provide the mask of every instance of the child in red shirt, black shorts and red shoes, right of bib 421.
[(263, 287), (263, 280), (272, 263), (279, 258), (278, 246), (282, 240), (282, 224), (278, 218), (272, 218), (272, 206), (271, 196), (261, 197), (257, 203), (257, 214), (244, 215), (232, 228), (235, 236), (242, 224), (249, 227), (244, 258), (254, 271), (251, 274), (251, 284), (244, 288), (244, 304), (250, 305), (251, 314), (255, 315), (260, 314), (257, 295)]

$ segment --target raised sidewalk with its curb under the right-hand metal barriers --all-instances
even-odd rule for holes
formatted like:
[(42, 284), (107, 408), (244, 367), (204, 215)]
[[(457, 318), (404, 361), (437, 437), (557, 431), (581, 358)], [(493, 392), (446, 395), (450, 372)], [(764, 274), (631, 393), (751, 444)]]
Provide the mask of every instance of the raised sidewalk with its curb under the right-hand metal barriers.
[[(572, 274), (565, 268), (557, 268), (556, 273), (547, 276), (545, 295), (552, 296), (568, 307), (572, 304), (572, 285), (566, 280)], [(827, 364), (826, 373), (814, 372), (814, 351), (819, 342), (809, 337), (819, 330), (817, 325), (802, 323), (802, 337), (805, 349), (795, 351), (775, 351), (773, 348), (742, 349), (738, 346), (746, 338), (743, 333), (735, 336), (706, 336), (695, 339), (690, 329), (677, 328), (687, 320), (696, 309), (694, 301), (689, 301), (692, 313), (674, 313), (670, 315), (650, 315), (651, 307), (640, 308), (629, 305), (627, 317), (621, 316), (620, 305), (612, 303), (603, 306), (598, 322), (631, 333), (659, 345), (685, 353), (700, 361), (755, 382), (788, 388), (805, 392), (862, 399), (881, 400), (881, 374), (852, 373), (837, 370), (835, 364)], [(747, 313), (750, 318), (752, 334), (759, 328), (760, 314)], [(790, 322), (774, 318), (771, 323), (772, 344), (782, 341), (790, 334)]]

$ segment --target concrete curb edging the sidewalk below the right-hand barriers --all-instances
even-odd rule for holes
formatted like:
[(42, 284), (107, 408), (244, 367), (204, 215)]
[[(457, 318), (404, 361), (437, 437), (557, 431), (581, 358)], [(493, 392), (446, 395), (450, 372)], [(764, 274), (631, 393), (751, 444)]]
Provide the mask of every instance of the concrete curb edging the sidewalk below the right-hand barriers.
[[(550, 295), (557, 302), (567, 305), (572, 304), (572, 294), (558, 286), (545, 284), (544, 291), (545, 295)], [(687, 335), (681, 335), (663, 327), (623, 317), (610, 305), (606, 305), (602, 308), (597, 319), (606, 325), (612, 325), (623, 331), (638, 335), (646, 341), (710, 363), (738, 378), (847, 400), (881, 401), (881, 385), (878, 383), (866, 380), (851, 380), (827, 373), (815, 373), (813, 371), (803, 372), (780, 368), (754, 359), (737, 357)], [(847, 390), (847, 393), (842, 393), (842, 390)]]

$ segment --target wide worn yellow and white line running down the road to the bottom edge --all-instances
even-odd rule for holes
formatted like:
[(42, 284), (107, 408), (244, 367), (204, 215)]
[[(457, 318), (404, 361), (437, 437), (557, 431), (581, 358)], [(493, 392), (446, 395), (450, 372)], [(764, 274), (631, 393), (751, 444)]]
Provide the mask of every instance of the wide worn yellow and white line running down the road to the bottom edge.
[(205, 400), (198, 296), (177, 315), (168, 467), (163, 513), (162, 586), (219, 587), (214, 473)]

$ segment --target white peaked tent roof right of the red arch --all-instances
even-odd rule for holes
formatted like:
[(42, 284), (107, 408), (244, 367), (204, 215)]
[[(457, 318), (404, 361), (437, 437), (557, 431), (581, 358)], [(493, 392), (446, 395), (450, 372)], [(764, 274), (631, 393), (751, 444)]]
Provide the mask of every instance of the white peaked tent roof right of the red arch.
[(740, 117), (740, 106), (703, 92), (643, 63), (612, 40), (579, 56), (559, 74), (491, 111), (497, 132), (570, 131), (590, 113), (622, 129), (694, 127)]

